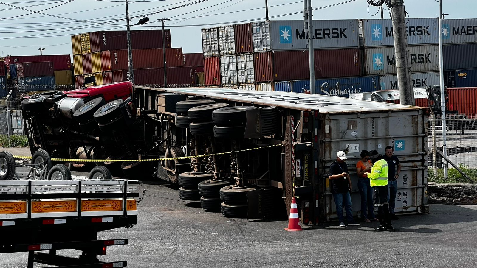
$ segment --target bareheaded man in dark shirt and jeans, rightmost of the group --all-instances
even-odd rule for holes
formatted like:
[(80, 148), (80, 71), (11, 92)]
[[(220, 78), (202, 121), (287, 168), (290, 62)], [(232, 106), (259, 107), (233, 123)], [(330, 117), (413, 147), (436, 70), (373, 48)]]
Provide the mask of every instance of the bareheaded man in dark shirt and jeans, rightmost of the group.
[[(388, 200), (389, 200), (389, 213), (391, 214), (391, 219), (397, 220), (399, 219), (394, 214), (394, 207), (396, 206), (396, 193), (397, 193), (397, 178), (399, 177), (399, 173), (401, 172), (401, 163), (399, 163), (399, 159), (397, 156), (393, 155), (393, 147), (386, 146), (386, 154), (383, 155), (381, 159), (386, 160), (388, 163), (389, 171), (388, 171)], [(397, 167), (397, 172), (396, 172)]]

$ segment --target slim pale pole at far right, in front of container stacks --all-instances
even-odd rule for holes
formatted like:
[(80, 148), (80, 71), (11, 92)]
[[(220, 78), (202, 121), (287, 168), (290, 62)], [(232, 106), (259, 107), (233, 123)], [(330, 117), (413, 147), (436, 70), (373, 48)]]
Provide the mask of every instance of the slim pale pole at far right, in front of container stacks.
[[(439, 77), (441, 90), (441, 114), (442, 114), (442, 154), (447, 157), (447, 141), (446, 141), (446, 92), (444, 88), (444, 64), (442, 56), (442, 0), (439, 1)], [(436, 156), (434, 156), (436, 158)], [(444, 179), (447, 179), (447, 161), (443, 160)], [(434, 160), (436, 161), (436, 160)]]

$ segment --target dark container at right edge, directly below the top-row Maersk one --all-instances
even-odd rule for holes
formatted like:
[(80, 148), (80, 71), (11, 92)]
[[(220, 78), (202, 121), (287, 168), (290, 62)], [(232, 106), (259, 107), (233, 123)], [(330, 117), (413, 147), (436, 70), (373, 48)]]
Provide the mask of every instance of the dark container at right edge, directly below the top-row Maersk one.
[(444, 45), (442, 56), (444, 70), (477, 68), (477, 43)]

